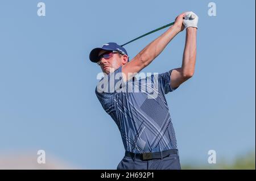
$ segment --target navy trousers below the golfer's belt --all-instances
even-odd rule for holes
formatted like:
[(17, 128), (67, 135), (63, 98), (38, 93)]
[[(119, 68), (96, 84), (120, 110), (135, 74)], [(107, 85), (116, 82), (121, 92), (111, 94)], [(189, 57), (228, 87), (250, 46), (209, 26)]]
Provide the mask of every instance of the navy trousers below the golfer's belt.
[(117, 166), (117, 170), (180, 170), (180, 158), (178, 154), (170, 154), (159, 159), (142, 160), (139, 158), (123, 157)]

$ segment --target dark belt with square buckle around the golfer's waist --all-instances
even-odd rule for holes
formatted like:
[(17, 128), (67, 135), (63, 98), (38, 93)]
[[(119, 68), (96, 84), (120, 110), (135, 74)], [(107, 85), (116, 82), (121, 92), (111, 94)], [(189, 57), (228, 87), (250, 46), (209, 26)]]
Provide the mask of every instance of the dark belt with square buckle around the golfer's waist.
[(160, 159), (168, 157), (171, 154), (178, 154), (177, 149), (171, 149), (171, 150), (164, 150), (160, 152), (152, 152), (152, 153), (132, 153), (129, 151), (125, 151), (125, 156), (130, 158), (139, 158), (142, 160), (149, 160), (149, 159)]

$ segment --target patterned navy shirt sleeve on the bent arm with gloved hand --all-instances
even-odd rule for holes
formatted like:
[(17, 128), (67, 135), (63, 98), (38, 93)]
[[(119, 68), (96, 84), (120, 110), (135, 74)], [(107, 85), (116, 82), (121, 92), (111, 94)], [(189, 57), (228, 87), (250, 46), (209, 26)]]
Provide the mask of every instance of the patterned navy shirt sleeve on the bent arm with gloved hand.
[(176, 90), (179, 87), (179, 86), (171, 87), (171, 73), (172, 73), (172, 70), (158, 75), (159, 85), (161, 87), (163, 87), (164, 94), (167, 94), (168, 92), (172, 92), (172, 91)]

